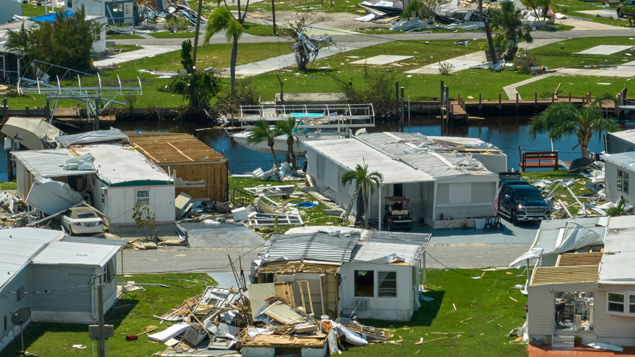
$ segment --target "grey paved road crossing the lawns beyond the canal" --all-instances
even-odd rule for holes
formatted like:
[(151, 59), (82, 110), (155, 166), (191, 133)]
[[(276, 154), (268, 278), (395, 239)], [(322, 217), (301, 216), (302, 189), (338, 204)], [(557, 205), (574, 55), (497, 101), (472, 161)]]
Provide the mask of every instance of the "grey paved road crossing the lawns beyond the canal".
[[(538, 31), (531, 34), (535, 39), (574, 39), (585, 37), (606, 37), (606, 36), (635, 36), (635, 29), (620, 28), (617, 30), (580, 30), (580, 31)], [(389, 41), (403, 41), (403, 40), (415, 40), (415, 41), (427, 41), (434, 39), (453, 39), (453, 40), (465, 40), (465, 39), (477, 39), (485, 40), (485, 33), (476, 32), (462, 32), (462, 33), (436, 33), (436, 34), (385, 34), (385, 35), (371, 35), (371, 34), (342, 34), (331, 36), (333, 41), (337, 42), (389, 42)], [(116, 44), (181, 44), (184, 39), (119, 39), (116, 40)], [(240, 43), (271, 43), (271, 42), (287, 42), (286, 37), (276, 36), (243, 36), (239, 40)], [(203, 37), (200, 37), (199, 45), (203, 43)], [(224, 36), (215, 36), (210, 40), (210, 44), (227, 43)]]

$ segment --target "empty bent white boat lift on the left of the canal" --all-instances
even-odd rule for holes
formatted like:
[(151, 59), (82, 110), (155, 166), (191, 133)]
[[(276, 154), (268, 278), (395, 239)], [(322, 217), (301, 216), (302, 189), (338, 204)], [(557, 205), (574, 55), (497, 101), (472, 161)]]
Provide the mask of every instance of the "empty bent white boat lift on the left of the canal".
[[(47, 71), (42, 71), (40, 67), (41, 65), (48, 67)], [(64, 69), (66, 72), (62, 76), (56, 75), (55, 79), (53, 79), (51, 76), (46, 74), (51, 67)], [(75, 71), (74, 69), (68, 69), (37, 60), (33, 61), (29, 65), (27, 71), (25, 71), (25, 74), (26, 73), (36, 74), (34, 76), (36, 79), (29, 79), (26, 76), (20, 77), (17, 85), (18, 93), (30, 95), (46, 94), (46, 107), (49, 109), (46, 111), (46, 119), (49, 123), (53, 122), (55, 108), (57, 107), (60, 99), (69, 99), (85, 104), (88, 121), (94, 121), (95, 119), (98, 121), (99, 114), (101, 114), (110, 103), (126, 105), (124, 102), (115, 100), (116, 97), (143, 95), (143, 89), (139, 77), (137, 77), (137, 86), (137, 83), (131, 84), (122, 82), (121, 79), (119, 79), (119, 76), (117, 76), (117, 80), (114, 81), (112, 79), (102, 78), (99, 74), (97, 74), (97, 76), (93, 76), (92, 74)], [(82, 86), (82, 79), (86, 81), (87, 78), (89, 80), (92, 79), (92, 81), (97, 79), (97, 86)], [(75, 79), (77, 79), (76, 87), (62, 86), (62, 81), (74, 81)], [(50, 106), (51, 99), (53, 99), (52, 107)], [(105, 104), (102, 106), (100, 105), (101, 102), (105, 102)]]

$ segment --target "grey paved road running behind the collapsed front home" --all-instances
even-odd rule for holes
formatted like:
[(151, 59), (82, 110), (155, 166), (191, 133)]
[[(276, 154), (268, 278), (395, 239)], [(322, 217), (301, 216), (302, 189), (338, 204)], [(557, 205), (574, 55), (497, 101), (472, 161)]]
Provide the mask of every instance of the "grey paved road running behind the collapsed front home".
[[(528, 244), (502, 245), (430, 245), (425, 257), (426, 266), (444, 267), (506, 267), (529, 249)], [(166, 247), (157, 250), (136, 250), (123, 253), (126, 274), (168, 273), (185, 271), (215, 273), (231, 271), (227, 255), (232, 260), (241, 257), (243, 269), (249, 270), (251, 260), (260, 248), (189, 249)], [(435, 261), (438, 260), (439, 262)], [(121, 254), (117, 254), (117, 269)]]

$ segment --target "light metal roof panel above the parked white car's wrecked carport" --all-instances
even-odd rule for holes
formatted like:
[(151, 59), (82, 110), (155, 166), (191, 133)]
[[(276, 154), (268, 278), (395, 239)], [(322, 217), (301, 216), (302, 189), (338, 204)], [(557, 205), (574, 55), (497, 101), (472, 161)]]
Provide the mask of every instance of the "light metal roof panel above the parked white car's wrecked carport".
[(75, 158), (68, 149), (36, 150), (36, 151), (12, 151), (22, 164), (34, 175), (41, 177), (62, 177), (69, 175), (88, 175), (95, 173), (91, 170), (64, 170), (64, 164), (68, 159)]

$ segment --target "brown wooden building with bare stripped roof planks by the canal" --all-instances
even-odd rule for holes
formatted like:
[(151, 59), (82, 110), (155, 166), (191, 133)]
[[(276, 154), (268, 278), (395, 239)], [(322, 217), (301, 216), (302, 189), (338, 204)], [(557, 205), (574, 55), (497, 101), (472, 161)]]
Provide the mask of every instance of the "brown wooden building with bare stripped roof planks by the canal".
[(229, 200), (229, 160), (224, 156), (189, 134), (152, 133), (135, 136), (136, 134), (132, 131), (128, 135), (133, 147), (166, 172), (177, 170), (177, 196), (184, 192), (194, 199), (210, 198), (221, 202)]

